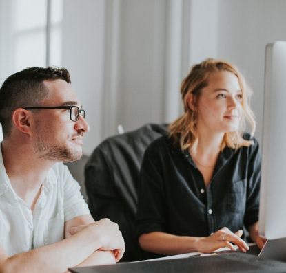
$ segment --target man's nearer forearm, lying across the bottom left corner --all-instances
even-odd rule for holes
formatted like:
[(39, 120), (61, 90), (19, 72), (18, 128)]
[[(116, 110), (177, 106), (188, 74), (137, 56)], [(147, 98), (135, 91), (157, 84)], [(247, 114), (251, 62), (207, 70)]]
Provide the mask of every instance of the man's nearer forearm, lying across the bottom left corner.
[(2, 255), (0, 272), (36, 273), (43, 271), (44, 268), (45, 272), (62, 273), (68, 267), (75, 267), (85, 260), (89, 261), (88, 257), (93, 259), (94, 263), (96, 259), (102, 259), (100, 254), (95, 254), (95, 250), (99, 248), (101, 248), (99, 241), (91, 240), (90, 232), (84, 230), (72, 237), (29, 252), (11, 257)]

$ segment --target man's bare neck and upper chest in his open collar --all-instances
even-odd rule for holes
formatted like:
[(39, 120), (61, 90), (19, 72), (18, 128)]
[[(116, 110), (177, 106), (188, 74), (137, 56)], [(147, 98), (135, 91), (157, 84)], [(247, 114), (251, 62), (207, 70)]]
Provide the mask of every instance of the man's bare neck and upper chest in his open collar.
[(1, 151), (12, 188), (32, 208), (54, 162), (39, 158), (29, 144), (12, 140), (4, 140)]

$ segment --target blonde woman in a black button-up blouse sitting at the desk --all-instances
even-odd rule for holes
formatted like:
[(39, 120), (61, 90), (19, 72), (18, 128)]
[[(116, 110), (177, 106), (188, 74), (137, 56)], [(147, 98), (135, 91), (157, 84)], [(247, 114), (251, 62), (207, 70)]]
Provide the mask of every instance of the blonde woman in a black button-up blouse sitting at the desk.
[[(184, 113), (145, 152), (139, 183), (139, 243), (156, 254), (246, 252), (243, 225), (258, 236), (261, 157), (250, 91), (238, 69), (207, 59), (181, 85)], [(234, 244), (234, 245), (233, 245)]]

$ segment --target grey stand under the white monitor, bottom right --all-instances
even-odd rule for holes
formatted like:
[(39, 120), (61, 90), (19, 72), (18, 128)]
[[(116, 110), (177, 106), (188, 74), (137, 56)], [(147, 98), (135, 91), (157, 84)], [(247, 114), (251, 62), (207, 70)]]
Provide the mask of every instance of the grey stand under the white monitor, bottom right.
[(267, 240), (259, 258), (286, 261), (286, 238)]

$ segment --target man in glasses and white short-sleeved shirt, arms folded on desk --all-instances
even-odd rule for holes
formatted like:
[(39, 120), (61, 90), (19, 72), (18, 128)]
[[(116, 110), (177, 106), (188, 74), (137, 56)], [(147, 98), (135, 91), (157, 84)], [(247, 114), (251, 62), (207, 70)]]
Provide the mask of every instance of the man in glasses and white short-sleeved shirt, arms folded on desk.
[(82, 155), (85, 111), (66, 69), (30, 67), (0, 89), (0, 272), (115, 263), (116, 223), (94, 222), (62, 162)]

